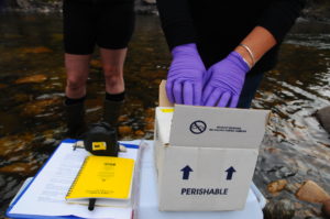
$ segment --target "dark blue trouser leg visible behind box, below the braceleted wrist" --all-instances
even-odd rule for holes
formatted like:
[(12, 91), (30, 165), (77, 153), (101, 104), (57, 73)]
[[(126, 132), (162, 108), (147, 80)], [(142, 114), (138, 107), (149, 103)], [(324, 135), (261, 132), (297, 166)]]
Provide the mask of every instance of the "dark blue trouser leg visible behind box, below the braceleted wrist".
[(263, 79), (263, 73), (246, 74), (238, 108), (249, 109), (251, 107), (255, 92)]

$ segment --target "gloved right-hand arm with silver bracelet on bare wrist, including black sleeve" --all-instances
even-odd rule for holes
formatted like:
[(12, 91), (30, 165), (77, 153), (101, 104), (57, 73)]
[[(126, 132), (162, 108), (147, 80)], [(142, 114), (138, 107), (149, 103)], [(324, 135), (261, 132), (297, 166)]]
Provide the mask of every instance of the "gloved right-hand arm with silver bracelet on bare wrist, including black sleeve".
[(282, 43), (294, 25), (305, 0), (273, 0), (257, 25), (226, 58), (208, 69), (202, 105), (237, 107), (245, 75), (274, 45)]

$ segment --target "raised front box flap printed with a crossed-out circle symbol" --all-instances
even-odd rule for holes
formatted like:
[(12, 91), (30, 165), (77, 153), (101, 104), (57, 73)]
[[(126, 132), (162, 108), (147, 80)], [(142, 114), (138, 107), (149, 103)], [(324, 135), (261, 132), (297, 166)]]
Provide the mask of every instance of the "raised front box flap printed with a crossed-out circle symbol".
[(169, 144), (257, 149), (268, 114), (268, 110), (175, 105)]

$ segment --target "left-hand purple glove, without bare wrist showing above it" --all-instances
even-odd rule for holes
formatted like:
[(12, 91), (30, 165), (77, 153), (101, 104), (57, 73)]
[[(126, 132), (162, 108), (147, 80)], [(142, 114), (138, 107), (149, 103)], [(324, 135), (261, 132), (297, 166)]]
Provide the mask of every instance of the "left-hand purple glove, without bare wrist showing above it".
[(201, 105), (201, 90), (206, 68), (196, 44), (185, 44), (172, 50), (166, 92), (170, 102)]

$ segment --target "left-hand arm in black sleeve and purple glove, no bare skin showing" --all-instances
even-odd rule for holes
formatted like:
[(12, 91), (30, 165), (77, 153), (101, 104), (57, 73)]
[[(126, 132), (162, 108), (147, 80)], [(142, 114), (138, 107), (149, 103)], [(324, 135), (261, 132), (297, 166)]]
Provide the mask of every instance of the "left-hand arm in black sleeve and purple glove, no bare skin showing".
[(162, 28), (172, 53), (166, 94), (170, 102), (201, 105), (205, 65), (196, 46), (188, 0), (157, 0)]

